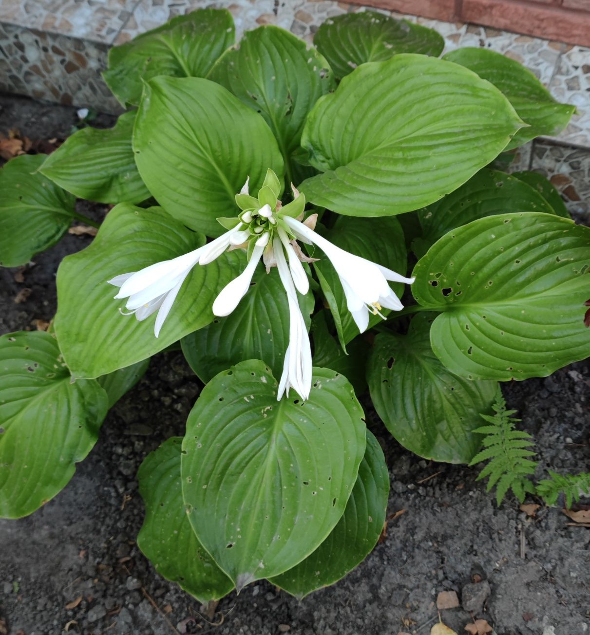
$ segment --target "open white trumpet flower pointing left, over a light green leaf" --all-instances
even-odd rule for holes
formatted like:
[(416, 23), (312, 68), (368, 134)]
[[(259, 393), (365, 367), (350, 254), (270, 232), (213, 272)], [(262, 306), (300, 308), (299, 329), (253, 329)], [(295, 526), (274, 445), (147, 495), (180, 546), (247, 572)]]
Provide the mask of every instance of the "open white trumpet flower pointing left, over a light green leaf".
[(154, 335), (158, 337), (182, 283), (199, 262), (204, 248), (199, 247), (177, 258), (156, 262), (140, 271), (121, 274), (107, 281), (119, 287), (119, 292), (114, 296), (116, 300), (129, 298), (125, 305), (128, 313), (121, 312), (124, 315), (135, 314), (135, 318), (141, 322), (158, 311), (154, 324)]

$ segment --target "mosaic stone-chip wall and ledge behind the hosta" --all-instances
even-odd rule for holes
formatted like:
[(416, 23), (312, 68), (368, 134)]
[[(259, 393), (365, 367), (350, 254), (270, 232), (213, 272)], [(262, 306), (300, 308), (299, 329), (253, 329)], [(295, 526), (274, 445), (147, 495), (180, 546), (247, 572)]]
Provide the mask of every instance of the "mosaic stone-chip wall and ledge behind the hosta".
[[(333, 0), (0, 0), (0, 90), (121, 112), (100, 77), (109, 47), (203, 7), (229, 9), (238, 38), (258, 25), (275, 24), (310, 43), (326, 18), (366, 10)], [(527, 144), (512, 169), (551, 175), (570, 210), (590, 221), (590, 49), (472, 24), (392, 15), (438, 30), (445, 51), (478, 46), (518, 60), (554, 97), (577, 107), (559, 137)]]

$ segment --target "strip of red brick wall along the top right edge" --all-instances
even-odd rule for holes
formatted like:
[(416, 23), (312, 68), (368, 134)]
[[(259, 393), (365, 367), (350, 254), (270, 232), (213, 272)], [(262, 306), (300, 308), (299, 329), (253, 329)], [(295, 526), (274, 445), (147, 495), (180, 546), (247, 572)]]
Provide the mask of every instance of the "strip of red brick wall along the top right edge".
[(391, 11), (472, 22), (590, 46), (590, 0), (355, 0)]

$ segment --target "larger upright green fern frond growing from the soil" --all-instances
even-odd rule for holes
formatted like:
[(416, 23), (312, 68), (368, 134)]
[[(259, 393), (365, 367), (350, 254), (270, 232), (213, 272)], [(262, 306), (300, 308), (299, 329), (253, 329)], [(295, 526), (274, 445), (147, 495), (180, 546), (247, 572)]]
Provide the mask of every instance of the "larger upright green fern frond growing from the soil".
[(479, 451), (469, 465), (476, 465), (483, 461), (488, 463), (478, 474), (477, 480), (488, 478), (486, 491), (496, 488), (496, 502), (502, 502), (508, 490), (523, 502), (527, 492), (534, 492), (535, 488), (529, 476), (534, 474), (537, 463), (527, 457), (533, 457), (535, 452), (530, 450), (533, 438), (528, 432), (518, 430), (516, 422), (520, 421), (513, 415), (516, 410), (507, 410), (506, 401), (498, 387), (495, 403), (492, 406), (495, 415), (480, 415), (492, 425), (483, 425), (474, 432), (485, 434)]

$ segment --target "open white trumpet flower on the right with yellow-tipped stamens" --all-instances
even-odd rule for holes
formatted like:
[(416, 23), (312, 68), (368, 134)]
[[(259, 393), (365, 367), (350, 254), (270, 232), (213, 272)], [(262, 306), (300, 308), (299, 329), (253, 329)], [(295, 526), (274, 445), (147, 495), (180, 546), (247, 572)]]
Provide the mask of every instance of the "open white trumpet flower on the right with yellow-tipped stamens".
[(369, 312), (381, 315), (382, 308), (393, 311), (403, 309), (403, 304), (388, 281), (412, 284), (413, 277), (401, 276), (391, 269), (349, 253), (295, 218), (285, 217), (284, 220), (296, 238), (316, 244), (332, 262), (342, 283), (347, 307), (361, 333), (368, 326)]

